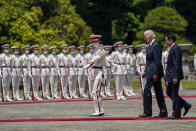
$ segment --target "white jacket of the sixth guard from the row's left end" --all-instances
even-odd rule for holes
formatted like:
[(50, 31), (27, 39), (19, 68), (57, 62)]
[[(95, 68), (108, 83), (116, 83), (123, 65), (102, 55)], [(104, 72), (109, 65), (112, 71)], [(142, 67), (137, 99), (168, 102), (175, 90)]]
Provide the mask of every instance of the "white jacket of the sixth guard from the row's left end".
[(49, 59), (50, 59), (50, 63), (51, 63), (51, 71), (50, 71), (50, 75), (51, 76), (57, 76), (58, 75), (58, 71), (59, 71), (59, 63), (58, 63), (58, 59), (59, 57), (57, 55), (49, 55)]

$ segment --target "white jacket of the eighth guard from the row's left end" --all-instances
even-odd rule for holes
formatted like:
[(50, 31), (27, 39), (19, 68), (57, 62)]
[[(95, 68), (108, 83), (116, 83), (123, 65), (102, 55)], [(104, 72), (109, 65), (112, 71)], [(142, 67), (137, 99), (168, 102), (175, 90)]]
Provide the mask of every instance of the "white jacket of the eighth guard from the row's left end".
[(78, 75), (78, 63), (79, 59), (76, 54), (69, 54), (68, 55), (69, 63), (70, 63), (70, 75)]

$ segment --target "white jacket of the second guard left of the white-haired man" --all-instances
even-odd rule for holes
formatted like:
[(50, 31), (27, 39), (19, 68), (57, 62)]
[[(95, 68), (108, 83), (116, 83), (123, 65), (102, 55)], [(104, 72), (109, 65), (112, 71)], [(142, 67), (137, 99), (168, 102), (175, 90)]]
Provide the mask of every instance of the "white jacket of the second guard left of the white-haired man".
[(136, 56), (133, 53), (127, 54), (127, 70), (130, 74), (135, 74)]

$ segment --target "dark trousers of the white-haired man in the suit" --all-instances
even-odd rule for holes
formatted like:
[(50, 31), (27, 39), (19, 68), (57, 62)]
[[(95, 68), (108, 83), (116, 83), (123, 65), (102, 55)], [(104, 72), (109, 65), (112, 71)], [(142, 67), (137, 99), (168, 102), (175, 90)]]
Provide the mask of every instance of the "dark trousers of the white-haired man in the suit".
[(153, 78), (146, 79), (146, 85), (144, 88), (144, 114), (152, 114), (152, 94), (151, 88), (154, 86), (157, 103), (160, 109), (160, 114), (167, 114), (167, 108), (163, 95), (161, 78), (157, 82), (153, 81)]

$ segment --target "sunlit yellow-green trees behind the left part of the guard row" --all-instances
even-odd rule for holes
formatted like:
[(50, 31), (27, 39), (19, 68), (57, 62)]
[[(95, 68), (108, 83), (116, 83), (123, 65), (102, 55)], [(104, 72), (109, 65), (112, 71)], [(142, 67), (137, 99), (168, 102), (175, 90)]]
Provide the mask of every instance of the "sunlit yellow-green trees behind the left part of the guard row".
[(0, 1), (0, 44), (77, 46), (91, 34), (69, 0)]

